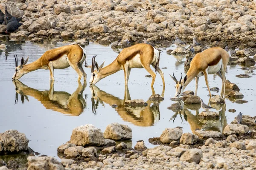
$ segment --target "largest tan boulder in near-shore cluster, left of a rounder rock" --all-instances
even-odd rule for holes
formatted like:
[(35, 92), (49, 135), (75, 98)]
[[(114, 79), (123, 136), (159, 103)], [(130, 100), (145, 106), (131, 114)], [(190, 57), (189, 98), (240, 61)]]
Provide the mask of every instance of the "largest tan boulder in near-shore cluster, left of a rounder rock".
[(105, 139), (99, 128), (93, 125), (84, 125), (73, 129), (69, 143), (76, 144), (77, 146), (103, 146)]

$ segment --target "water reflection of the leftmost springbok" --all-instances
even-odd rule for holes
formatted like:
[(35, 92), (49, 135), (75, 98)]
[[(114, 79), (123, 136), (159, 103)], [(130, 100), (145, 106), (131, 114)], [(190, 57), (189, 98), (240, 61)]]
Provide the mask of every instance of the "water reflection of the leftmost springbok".
[(49, 91), (39, 91), (34, 88), (30, 88), (24, 85), (19, 80), (13, 81), (16, 88), (15, 104), (18, 102), (18, 94), (22, 103), (26, 98), (29, 101), (28, 96), (32, 96), (40, 101), (46, 109), (58, 111), (70, 116), (79, 116), (86, 107), (86, 98), (83, 98), (83, 91), (86, 87), (86, 82), (82, 85), (78, 82), (78, 88), (73, 94), (69, 94), (65, 91), (54, 91), (54, 82), (51, 82)]

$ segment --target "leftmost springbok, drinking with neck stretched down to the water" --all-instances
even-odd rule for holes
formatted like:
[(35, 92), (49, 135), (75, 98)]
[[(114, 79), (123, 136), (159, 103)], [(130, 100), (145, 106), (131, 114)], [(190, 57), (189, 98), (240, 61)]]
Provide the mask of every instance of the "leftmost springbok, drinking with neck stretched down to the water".
[(54, 69), (64, 69), (71, 66), (78, 74), (78, 81), (81, 80), (82, 76), (84, 77), (84, 81), (86, 81), (87, 75), (82, 67), (84, 60), (86, 63), (86, 51), (79, 45), (65, 45), (48, 50), (36, 61), (26, 64), (28, 60), (29, 57), (25, 61), (22, 57), (20, 65), (18, 66), (18, 58), (16, 55), (16, 68), (12, 77), (13, 80), (20, 79), (20, 77), (22, 77), (24, 74), (42, 68), (45, 70), (50, 70), (50, 80), (54, 81)]

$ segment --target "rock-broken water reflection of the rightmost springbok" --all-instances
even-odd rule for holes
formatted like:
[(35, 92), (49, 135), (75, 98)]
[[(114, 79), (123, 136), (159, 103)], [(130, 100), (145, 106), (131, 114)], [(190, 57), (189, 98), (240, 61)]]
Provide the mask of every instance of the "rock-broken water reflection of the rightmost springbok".
[[(222, 106), (222, 107), (221, 107)], [(190, 105), (184, 105), (184, 108), (178, 112), (176, 112), (170, 120), (175, 121), (177, 115), (180, 115), (181, 121), (183, 122), (183, 118), (189, 123), (190, 129), (192, 133), (195, 134), (195, 130), (207, 130), (207, 131), (218, 131), (222, 132), (224, 128), (227, 126), (227, 119), (225, 116), (226, 112), (226, 104), (221, 105), (221, 110), (219, 111), (220, 119), (215, 120), (203, 120), (198, 119), (199, 109), (201, 108), (200, 105), (198, 107), (193, 106), (192, 108)], [(192, 114), (189, 109), (196, 111), (196, 114)]]

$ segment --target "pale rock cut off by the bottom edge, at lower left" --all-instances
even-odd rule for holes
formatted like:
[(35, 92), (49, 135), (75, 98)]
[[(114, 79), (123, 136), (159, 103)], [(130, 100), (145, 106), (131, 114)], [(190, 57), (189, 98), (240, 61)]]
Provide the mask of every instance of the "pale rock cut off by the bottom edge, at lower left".
[(28, 157), (28, 170), (65, 170), (57, 159), (51, 156)]

